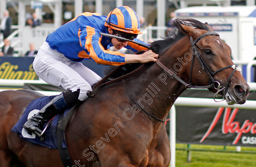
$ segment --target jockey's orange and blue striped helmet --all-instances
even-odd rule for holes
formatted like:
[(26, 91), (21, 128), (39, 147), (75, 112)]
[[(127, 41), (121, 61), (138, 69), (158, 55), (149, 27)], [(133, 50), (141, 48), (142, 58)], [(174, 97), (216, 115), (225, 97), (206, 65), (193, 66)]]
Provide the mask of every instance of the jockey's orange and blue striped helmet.
[(126, 33), (143, 34), (140, 32), (138, 15), (128, 6), (120, 6), (112, 10), (107, 16), (105, 26)]

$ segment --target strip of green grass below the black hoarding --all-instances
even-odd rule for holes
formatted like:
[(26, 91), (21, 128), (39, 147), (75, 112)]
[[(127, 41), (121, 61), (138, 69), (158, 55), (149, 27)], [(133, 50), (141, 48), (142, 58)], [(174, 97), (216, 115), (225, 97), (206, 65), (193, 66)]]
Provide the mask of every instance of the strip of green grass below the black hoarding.
[[(176, 144), (176, 148), (187, 148), (187, 144)], [(190, 148), (223, 150), (224, 146), (191, 145)], [(236, 147), (226, 146), (226, 150)], [(242, 147), (241, 151), (256, 151), (256, 148)], [(187, 162), (187, 151), (176, 150), (176, 167), (256, 167), (256, 154), (191, 151), (191, 162)]]

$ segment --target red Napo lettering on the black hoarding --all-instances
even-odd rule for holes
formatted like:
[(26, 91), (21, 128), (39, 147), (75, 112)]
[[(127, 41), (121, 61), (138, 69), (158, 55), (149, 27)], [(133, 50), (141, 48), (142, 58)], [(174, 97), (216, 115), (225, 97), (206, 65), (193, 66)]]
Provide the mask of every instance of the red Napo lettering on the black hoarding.
[[(224, 108), (220, 107), (217, 111), (210, 127), (208, 128), (207, 132), (204, 134), (203, 138), (200, 140), (200, 142), (203, 142), (205, 138), (212, 132), (213, 128), (219, 121), (219, 118), (223, 112)], [(238, 121), (234, 121), (236, 114), (238, 112), (238, 108), (233, 109), (231, 112), (231, 108), (225, 108), (225, 113), (223, 116), (222, 121), (222, 133), (237, 133), (235, 140), (233, 141), (233, 145), (235, 145), (241, 138), (242, 134), (249, 133), (255, 134), (256, 133), (256, 123), (250, 122), (250, 120), (245, 120), (243, 125), (240, 126), (240, 123)]]

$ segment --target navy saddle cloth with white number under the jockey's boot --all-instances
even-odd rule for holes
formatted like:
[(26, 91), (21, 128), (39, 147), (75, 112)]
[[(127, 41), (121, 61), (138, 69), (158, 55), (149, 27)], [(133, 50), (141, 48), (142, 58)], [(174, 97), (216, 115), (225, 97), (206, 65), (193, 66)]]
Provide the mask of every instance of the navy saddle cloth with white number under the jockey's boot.
[[(58, 149), (57, 148), (56, 128), (57, 128), (58, 119), (59, 119), (60, 114), (57, 114), (53, 118), (52, 124), (50, 126), (48, 126), (48, 128), (44, 132), (46, 134), (46, 139), (43, 142), (40, 141), (40, 138), (37, 135), (35, 135), (34, 133), (29, 133), (25, 128), (22, 127), (29, 118), (31, 118), (32, 116), (37, 114), (41, 110), (41, 108), (43, 108), (54, 97), (55, 96), (44, 96), (44, 97), (40, 97), (40, 98), (35, 99), (34, 101), (32, 101), (27, 106), (27, 108), (24, 111), (24, 114), (22, 115), (20, 120), (12, 128), (12, 132), (18, 133), (19, 136), (25, 141), (29, 141), (29, 142), (32, 142), (32, 143), (35, 143), (35, 144), (38, 144), (38, 145), (42, 145), (42, 146), (45, 146), (45, 147), (49, 147), (49, 148), (52, 148), (52, 149)], [(71, 108), (67, 109), (64, 112), (64, 116), (68, 113), (68, 111), (70, 109)], [(44, 124), (44, 126), (43, 126), (44, 128), (45, 128), (46, 124), (49, 121), (50, 120), (48, 120)], [(63, 133), (64, 133), (63, 136), (65, 136), (65, 132), (63, 132)], [(62, 148), (67, 148), (66, 142), (63, 138), (62, 138)]]

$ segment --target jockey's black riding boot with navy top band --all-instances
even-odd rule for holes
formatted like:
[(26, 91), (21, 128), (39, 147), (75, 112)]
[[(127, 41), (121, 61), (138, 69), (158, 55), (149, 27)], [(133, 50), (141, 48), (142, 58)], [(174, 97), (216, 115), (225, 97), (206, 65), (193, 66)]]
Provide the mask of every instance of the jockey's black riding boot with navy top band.
[(65, 111), (70, 107), (63, 96), (63, 93), (54, 97), (48, 104), (46, 104), (36, 115), (31, 117), (23, 125), (27, 131), (35, 133), (37, 136), (42, 136), (43, 124), (50, 118), (53, 118), (56, 114), (61, 111)]

